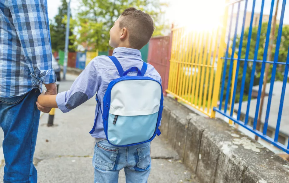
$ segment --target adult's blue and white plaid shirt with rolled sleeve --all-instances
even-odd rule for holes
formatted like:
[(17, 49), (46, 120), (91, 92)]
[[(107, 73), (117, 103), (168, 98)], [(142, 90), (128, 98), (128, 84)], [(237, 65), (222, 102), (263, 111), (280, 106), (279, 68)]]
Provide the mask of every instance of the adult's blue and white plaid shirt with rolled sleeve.
[(1, 0), (0, 97), (54, 83), (51, 56), (47, 0)]

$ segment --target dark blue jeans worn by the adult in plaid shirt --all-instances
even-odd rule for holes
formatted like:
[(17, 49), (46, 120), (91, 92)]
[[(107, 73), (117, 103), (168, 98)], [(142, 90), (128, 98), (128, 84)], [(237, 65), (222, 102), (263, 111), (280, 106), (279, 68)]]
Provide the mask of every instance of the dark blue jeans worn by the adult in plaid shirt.
[(4, 131), (4, 183), (36, 183), (33, 165), (40, 111), (35, 102), (39, 90), (0, 98), (0, 126)]

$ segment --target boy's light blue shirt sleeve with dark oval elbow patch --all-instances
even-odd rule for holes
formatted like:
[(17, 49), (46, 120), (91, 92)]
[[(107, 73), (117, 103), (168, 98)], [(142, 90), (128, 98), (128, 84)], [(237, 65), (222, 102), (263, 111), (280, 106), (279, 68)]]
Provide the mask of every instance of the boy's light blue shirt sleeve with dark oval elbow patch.
[(80, 106), (96, 94), (100, 83), (96, 63), (97, 57), (85, 67), (85, 70), (73, 82), (70, 90), (57, 94), (56, 103), (63, 113)]

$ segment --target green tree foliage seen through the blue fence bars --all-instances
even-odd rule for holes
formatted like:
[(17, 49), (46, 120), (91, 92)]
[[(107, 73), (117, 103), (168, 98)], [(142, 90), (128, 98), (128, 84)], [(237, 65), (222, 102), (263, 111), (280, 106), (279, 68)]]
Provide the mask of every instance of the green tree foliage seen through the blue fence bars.
[[(261, 27), (257, 60), (263, 60), (264, 47), (265, 47), (266, 34), (267, 34), (267, 26), (268, 26), (268, 23), (263, 23), (262, 27)], [(272, 49), (272, 59), (270, 61), (274, 60), (277, 35), (278, 35), (278, 28), (279, 28), (279, 25), (276, 25), (274, 42), (273, 42), (273, 49)], [(258, 32), (258, 27), (253, 27), (248, 59), (254, 59), (257, 32)], [(236, 54), (238, 54), (238, 52), (241, 51), (241, 59), (245, 59), (248, 37), (249, 37), (249, 28), (247, 30), (245, 30), (241, 50), (239, 50), (240, 37), (236, 40), (236, 47), (235, 47), (236, 51), (235, 52), (236, 52)], [(278, 62), (286, 62), (287, 53), (288, 53), (288, 46), (289, 46), (289, 27), (283, 26)], [(228, 60), (228, 66), (227, 66), (227, 70), (226, 70), (225, 86), (228, 83), (229, 63), (230, 63), (230, 60)], [(245, 86), (244, 86), (243, 101), (246, 101), (248, 99), (249, 85), (250, 85), (250, 81), (251, 81), (250, 78), (251, 78), (251, 73), (252, 73), (252, 65), (253, 65), (253, 62), (248, 62), (247, 71), (246, 71)], [(254, 86), (259, 85), (259, 80), (260, 80), (260, 76), (261, 76), (261, 68), (262, 68), (262, 63), (257, 62), (256, 63), (256, 70), (254, 73), (254, 76), (255, 76), (254, 77), (254, 83), (253, 83)], [(243, 69), (244, 69), (244, 61), (240, 61), (235, 103), (239, 102), (239, 98), (240, 98)], [(270, 70), (268, 72), (268, 81), (267, 82), (270, 82), (272, 69), (273, 69), (273, 64), (270, 64)], [(284, 70), (285, 70), (285, 65), (278, 65), (277, 66), (275, 81), (283, 81)], [(232, 82), (231, 82), (231, 84), (232, 84)], [(224, 92), (223, 99), (225, 99), (225, 95), (226, 95), (226, 92)]]

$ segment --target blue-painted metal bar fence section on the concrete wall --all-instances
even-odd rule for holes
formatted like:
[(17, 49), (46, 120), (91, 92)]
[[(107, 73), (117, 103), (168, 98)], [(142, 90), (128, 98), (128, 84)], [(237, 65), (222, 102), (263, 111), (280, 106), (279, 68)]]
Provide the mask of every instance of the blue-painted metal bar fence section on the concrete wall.
[[(242, 17), (243, 18), (242, 33), (241, 33), (241, 37), (239, 39), (240, 40), (239, 50), (242, 50), (243, 36), (244, 36), (244, 29), (245, 29), (245, 19), (246, 19), (246, 9), (248, 6), (248, 2), (246, 0), (244, 0), (243, 2), (238, 1), (236, 3), (232, 3), (231, 5), (229, 5), (227, 7), (227, 9), (228, 8), (232, 9), (232, 13), (230, 16), (230, 24), (229, 24), (228, 43), (232, 40), (233, 51), (235, 51), (237, 29), (238, 29), (238, 23), (235, 24), (235, 27), (234, 27), (234, 25), (232, 25), (232, 19), (234, 17), (233, 16), (233, 9), (234, 9), (234, 6), (238, 7), (237, 17), (236, 17), (238, 19), (239, 14), (240, 14), (240, 3), (245, 3), (245, 11), (244, 11), (244, 14)], [(235, 87), (232, 86), (232, 88), (234, 88), (232, 101), (235, 101), (237, 85), (238, 84), (241, 85), (239, 104), (235, 105), (235, 111), (237, 112), (237, 117), (233, 117), (233, 113), (234, 113), (233, 104), (231, 105), (231, 110), (229, 112), (227, 112), (228, 88), (230, 87), (230, 82), (231, 82), (231, 77), (232, 77), (232, 62), (234, 60), (234, 59), (228, 57), (227, 52), (225, 53), (225, 57), (222, 58), (224, 60), (224, 69), (222, 70), (223, 76), (222, 76), (222, 84), (221, 84), (220, 105), (219, 105), (219, 107), (214, 107), (214, 110), (223, 114), (224, 116), (233, 120), (235, 123), (241, 125), (242, 127), (245, 127), (247, 130), (253, 132), (254, 134), (261, 137), (262, 139), (266, 140), (267, 142), (272, 143), (273, 145), (279, 147), (280, 149), (282, 149), (288, 153), (289, 152), (288, 145), (285, 144), (284, 142), (283, 143), (278, 142), (278, 138), (280, 137), (280, 124), (281, 124), (281, 118), (282, 118), (282, 112), (283, 112), (285, 89), (286, 89), (286, 85), (287, 85), (288, 66), (289, 66), (289, 58), (288, 58), (289, 53), (287, 56), (287, 61), (278, 60), (279, 59), (281, 37), (282, 37), (282, 28), (283, 28), (283, 20), (284, 20), (286, 0), (283, 0), (283, 2), (282, 2), (281, 16), (280, 16), (280, 22), (279, 22), (279, 26), (278, 26), (278, 34), (277, 34), (277, 38), (276, 38), (276, 45), (274, 45), (275, 53), (274, 53), (273, 61), (267, 60), (268, 59), (267, 54), (268, 54), (268, 48), (270, 48), (270, 32), (273, 31), (273, 30), (271, 30), (271, 24), (272, 24), (272, 18), (273, 18), (274, 0), (271, 1), (270, 15), (269, 15), (269, 20), (268, 20), (268, 25), (266, 27), (267, 31), (266, 31), (265, 43), (263, 43), (263, 42), (260, 43), (260, 36), (263, 34), (261, 32), (261, 29), (262, 29), (262, 26), (264, 26), (264, 24), (262, 24), (263, 11), (264, 11), (264, 0), (262, 0), (262, 4), (260, 7), (261, 10), (260, 10), (260, 14), (259, 14), (259, 23), (258, 23), (258, 28), (257, 28), (256, 43), (252, 45), (251, 40), (252, 40), (252, 30), (254, 28), (253, 22), (254, 22), (255, 4), (256, 4), (256, 1), (253, 0), (252, 13), (251, 13), (251, 18), (250, 18), (250, 26), (249, 26), (249, 31), (248, 31), (248, 35), (247, 35), (248, 38), (246, 40), (247, 45), (246, 45), (246, 49), (245, 49), (245, 58), (242, 58), (242, 55), (241, 55), (242, 52), (239, 51), (238, 52), (238, 59), (237, 59), (237, 61), (238, 61), (237, 62), (237, 68), (236, 68), (237, 70), (236, 70), (236, 75), (235, 75), (236, 77), (235, 77), (235, 80), (232, 80), (232, 83), (235, 83)], [(242, 15), (240, 15), (240, 16), (242, 16)], [(238, 22), (238, 21), (236, 21), (236, 22)], [(230, 36), (230, 33), (231, 33), (230, 30), (232, 28), (235, 29), (233, 39)], [(273, 36), (274, 36), (274, 34), (273, 34)], [(283, 41), (285, 41), (285, 40), (283, 40)], [(249, 53), (250, 53), (250, 48), (252, 46), (254, 46), (255, 48), (254, 48), (253, 58), (250, 59)], [(289, 45), (287, 45), (287, 47), (288, 46)], [(258, 59), (258, 51), (259, 51), (260, 47), (264, 48), (263, 58), (261, 60)], [(227, 49), (228, 49), (228, 46), (227, 46)], [(228, 62), (230, 62), (229, 63), (230, 67), (229, 67), (228, 79), (226, 80), (226, 71), (227, 71)], [(239, 74), (240, 64), (242, 64), (243, 72), (242, 72), (241, 83), (238, 83), (237, 77)], [(261, 70), (260, 71), (256, 71), (257, 64), (258, 65), (261, 64)], [(266, 107), (266, 115), (265, 115), (265, 118), (263, 120), (262, 119), (263, 117), (259, 116), (259, 109), (260, 109), (260, 107), (262, 107), (262, 106), (260, 106), (260, 102), (261, 102), (262, 87), (264, 87), (263, 86), (264, 75), (266, 77), (266, 74), (264, 73), (266, 64), (272, 65), (272, 73), (271, 73), (271, 78), (270, 78), (270, 90), (269, 90), (268, 96), (265, 98), (265, 100), (267, 100), (267, 102), (264, 102), (264, 104), (266, 103), (266, 106), (264, 106), (264, 107)], [(282, 68), (284, 68), (282, 87), (281, 88), (275, 88), (276, 90), (279, 90), (279, 91), (281, 90), (281, 92), (280, 92), (281, 95), (279, 97), (280, 104), (279, 104), (279, 106), (274, 106), (275, 109), (278, 108), (277, 111), (274, 109), (271, 110), (271, 116), (274, 115), (273, 112), (275, 112), (275, 111), (277, 112), (277, 115), (274, 115), (276, 118), (269, 118), (270, 107), (271, 107), (272, 96), (273, 96), (273, 87), (274, 87), (274, 83), (276, 82), (275, 79), (276, 79), (277, 68), (281, 68), (280, 70), (282, 70)], [(248, 73), (247, 72), (248, 69), (251, 70), (251, 74), (249, 75), (249, 77), (246, 77), (246, 74)], [(256, 80), (256, 72), (258, 73), (258, 75), (260, 75), (260, 77), (259, 77), (259, 84), (258, 84), (259, 85), (258, 86), (258, 95), (257, 95), (256, 99), (253, 99), (252, 98), (252, 91), (253, 91), (254, 79)], [(250, 81), (249, 87), (248, 87), (248, 89), (249, 89), (248, 90), (248, 99), (245, 102), (244, 90), (245, 90), (245, 87), (247, 87), (247, 86), (245, 86), (245, 81), (248, 81), (248, 80)], [(226, 81), (227, 81), (227, 84), (226, 84)], [(227, 88), (227, 91), (225, 91), (225, 88)], [(226, 95), (223, 95), (224, 92), (226, 92)], [(251, 104), (253, 104), (252, 103), (253, 100), (254, 100), (254, 102), (256, 102), (255, 105), (251, 105)], [(275, 100), (277, 100), (277, 99), (275, 99)], [(223, 101), (225, 101), (224, 109), (222, 108), (222, 102)], [(276, 101), (274, 101), (274, 102), (276, 102)], [(246, 107), (243, 105), (246, 105)], [(287, 109), (287, 111), (288, 111), (288, 109)], [(244, 117), (242, 117), (242, 120), (241, 120), (242, 113), (244, 114)], [(251, 117), (252, 118), (252, 124), (251, 125), (248, 123), (249, 118), (250, 118), (250, 114), (252, 114), (252, 117)], [(263, 123), (263, 130), (261, 130), (260, 128), (259, 129), (257, 128), (258, 119), (260, 120), (261, 123)], [(269, 119), (270, 119), (270, 121), (269, 121)], [(285, 118), (282, 122), (283, 122), (283, 125), (286, 125), (285, 123), (288, 123), (289, 120), (288, 120), (288, 118), (287, 119)], [(273, 131), (275, 131), (274, 132), (275, 135), (267, 135), (268, 124), (270, 124), (271, 129)], [(286, 142), (286, 140), (285, 140), (285, 142)]]

